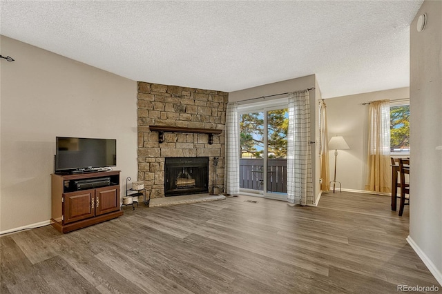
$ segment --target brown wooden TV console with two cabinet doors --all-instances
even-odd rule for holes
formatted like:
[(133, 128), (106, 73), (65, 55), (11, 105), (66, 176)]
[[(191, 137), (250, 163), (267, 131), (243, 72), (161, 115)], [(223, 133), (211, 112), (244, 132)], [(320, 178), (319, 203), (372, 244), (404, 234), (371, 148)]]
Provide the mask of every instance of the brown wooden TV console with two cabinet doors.
[[(73, 175), (51, 175), (52, 218), (61, 233), (123, 215), (119, 206), (119, 170)], [(77, 190), (75, 181), (110, 178), (110, 185)]]

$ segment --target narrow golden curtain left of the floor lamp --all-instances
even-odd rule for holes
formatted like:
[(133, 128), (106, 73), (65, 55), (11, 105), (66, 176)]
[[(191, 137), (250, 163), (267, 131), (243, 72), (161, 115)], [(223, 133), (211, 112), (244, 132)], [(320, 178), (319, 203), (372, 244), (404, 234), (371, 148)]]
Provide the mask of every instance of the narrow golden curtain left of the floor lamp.
[(330, 190), (329, 135), (327, 130), (327, 105), (324, 100), (319, 101), (319, 109), (320, 178), (323, 179), (320, 189), (328, 192)]

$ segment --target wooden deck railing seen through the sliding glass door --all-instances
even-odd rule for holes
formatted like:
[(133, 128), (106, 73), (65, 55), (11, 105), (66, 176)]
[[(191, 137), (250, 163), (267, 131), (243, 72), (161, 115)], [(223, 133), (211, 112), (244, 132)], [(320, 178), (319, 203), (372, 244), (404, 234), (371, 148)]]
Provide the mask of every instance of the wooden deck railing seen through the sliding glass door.
[[(263, 190), (263, 159), (240, 159), (240, 188)], [(287, 159), (268, 159), (267, 192), (287, 193)]]

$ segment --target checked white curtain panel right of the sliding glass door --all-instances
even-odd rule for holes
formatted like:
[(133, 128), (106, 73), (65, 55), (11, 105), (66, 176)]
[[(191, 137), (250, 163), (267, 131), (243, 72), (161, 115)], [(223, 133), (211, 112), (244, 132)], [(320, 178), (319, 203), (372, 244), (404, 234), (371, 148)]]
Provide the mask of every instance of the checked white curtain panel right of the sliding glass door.
[(310, 101), (307, 90), (289, 94), (287, 202), (314, 204), (311, 177)]

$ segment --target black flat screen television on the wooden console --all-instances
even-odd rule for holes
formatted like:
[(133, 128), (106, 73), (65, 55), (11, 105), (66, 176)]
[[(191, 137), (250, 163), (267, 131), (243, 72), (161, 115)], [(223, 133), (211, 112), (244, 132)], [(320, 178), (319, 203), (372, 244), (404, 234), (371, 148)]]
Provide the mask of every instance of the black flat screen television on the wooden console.
[(117, 165), (117, 140), (56, 137), (55, 172)]

